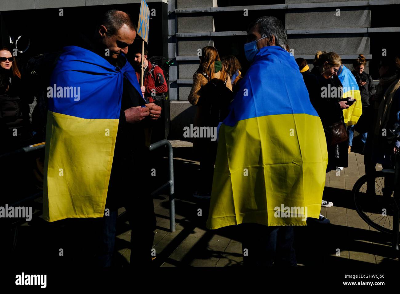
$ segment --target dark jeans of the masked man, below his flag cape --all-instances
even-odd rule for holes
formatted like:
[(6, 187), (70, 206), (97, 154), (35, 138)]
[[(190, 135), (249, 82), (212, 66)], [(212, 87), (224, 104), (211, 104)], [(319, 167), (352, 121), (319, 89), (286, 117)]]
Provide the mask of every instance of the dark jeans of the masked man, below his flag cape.
[(297, 266), (292, 226), (239, 226), (242, 229), (244, 266)]

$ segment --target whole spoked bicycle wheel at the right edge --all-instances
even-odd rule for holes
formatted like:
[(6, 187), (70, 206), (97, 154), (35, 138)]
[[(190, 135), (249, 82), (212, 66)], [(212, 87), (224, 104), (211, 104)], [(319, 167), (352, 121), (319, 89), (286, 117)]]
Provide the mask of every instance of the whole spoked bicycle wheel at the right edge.
[(393, 215), (396, 209), (393, 183), (393, 174), (378, 171), (372, 178), (362, 176), (353, 187), (357, 213), (372, 228), (388, 234), (393, 234)]

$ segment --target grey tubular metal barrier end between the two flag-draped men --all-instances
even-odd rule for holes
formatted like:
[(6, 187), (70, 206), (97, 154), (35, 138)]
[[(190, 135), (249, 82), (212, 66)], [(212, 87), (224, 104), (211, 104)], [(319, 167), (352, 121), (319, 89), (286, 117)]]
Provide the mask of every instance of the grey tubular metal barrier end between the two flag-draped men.
[(168, 140), (161, 140), (150, 145), (150, 151), (153, 151), (161, 146), (168, 147), (168, 166), (170, 172), (170, 180), (162, 185), (160, 188), (154, 190), (151, 195), (154, 196), (161, 192), (163, 189), (169, 187), (169, 200), (170, 200), (170, 230), (175, 232), (175, 198), (174, 198), (174, 153), (172, 152), (172, 145)]

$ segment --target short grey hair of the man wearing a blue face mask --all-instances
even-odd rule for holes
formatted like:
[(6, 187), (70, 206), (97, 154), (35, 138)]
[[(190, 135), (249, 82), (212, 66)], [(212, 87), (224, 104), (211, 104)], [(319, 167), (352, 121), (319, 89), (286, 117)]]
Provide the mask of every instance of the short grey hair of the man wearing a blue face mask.
[(248, 26), (247, 32), (253, 27), (258, 29), (261, 37), (275, 36), (275, 44), (286, 50), (288, 36), (286, 35), (285, 28), (280, 20), (275, 16), (262, 16), (254, 20)]

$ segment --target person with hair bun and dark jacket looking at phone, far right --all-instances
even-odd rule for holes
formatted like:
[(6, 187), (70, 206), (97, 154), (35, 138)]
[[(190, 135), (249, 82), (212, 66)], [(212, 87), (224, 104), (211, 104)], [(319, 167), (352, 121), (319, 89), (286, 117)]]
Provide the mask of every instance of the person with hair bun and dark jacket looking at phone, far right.
[[(370, 105), (369, 99), (375, 94), (375, 86), (373, 84), (372, 77), (364, 71), (366, 60), (364, 55), (360, 54), (356, 60), (353, 62), (354, 69), (352, 74), (356, 78), (358, 88), (360, 88), (361, 102), (362, 102), (362, 112), (366, 112), (366, 108)], [(354, 136), (354, 125), (348, 126), (347, 131), (349, 133), (349, 144), (348, 144), (348, 154), (350, 154), (351, 146), (353, 145)], [(361, 134), (361, 141), (365, 145), (368, 133)], [(364, 146), (363, 146), (364, 148)]]

